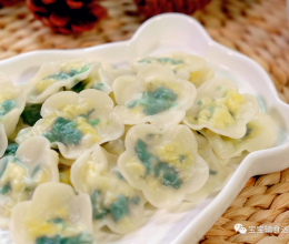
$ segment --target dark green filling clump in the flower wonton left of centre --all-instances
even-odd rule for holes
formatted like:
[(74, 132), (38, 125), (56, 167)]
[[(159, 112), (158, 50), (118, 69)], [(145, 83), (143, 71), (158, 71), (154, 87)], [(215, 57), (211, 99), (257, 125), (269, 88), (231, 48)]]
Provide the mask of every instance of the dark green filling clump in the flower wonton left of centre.
[(66, 145), (78, 145), (83, 134), (77, 129), (77, 123), (62, 116), (56, 119), (51, 130), (44, 132), (51, 143), (61, 142)]

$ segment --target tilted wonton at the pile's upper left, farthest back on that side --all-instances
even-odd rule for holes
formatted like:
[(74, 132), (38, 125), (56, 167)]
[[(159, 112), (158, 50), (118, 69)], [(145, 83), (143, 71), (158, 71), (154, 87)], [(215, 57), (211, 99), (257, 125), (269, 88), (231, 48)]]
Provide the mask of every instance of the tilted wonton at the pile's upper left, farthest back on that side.
[(43, 63), (36, 77), (29, 81), (27, 102), (42, 103), (61, 89), (71, 89), (86, 80), (94, 65), (96, 63), (82, 60)]

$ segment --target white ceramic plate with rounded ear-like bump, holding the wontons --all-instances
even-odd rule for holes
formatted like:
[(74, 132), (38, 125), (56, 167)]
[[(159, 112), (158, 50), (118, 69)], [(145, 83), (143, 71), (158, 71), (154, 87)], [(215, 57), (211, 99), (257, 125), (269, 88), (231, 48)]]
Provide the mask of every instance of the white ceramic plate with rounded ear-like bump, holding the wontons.
[[(210, 195), (197, 206), (182, 202), (169, 210), (150, 207), (141, 228), (124, 236), (100, 233), (97, 235), (99, 244), (197, 243), (250, 176), (289, 167), (289, 105), (279, 99), (273, 83), (258, 63), (215, 42), (196, 20), (178, 13), (151, 18), (128, 41), (77, 50), (34, 51), (0, 61), (0, 71), (17, 83), (27, 83), (43, 62), (94, 58), (124, 65), (127, 60), (168, 51), (186, 51), (205, 58), (216, 68), (217, 75), (230, 78), (241, 92), (258, 98), (261, 109), (279, 123), (278, 143), (276, 148), (250, 153), (218, 195)], [(0, 232), (0, 243), (12, 243), (8, 232)]]

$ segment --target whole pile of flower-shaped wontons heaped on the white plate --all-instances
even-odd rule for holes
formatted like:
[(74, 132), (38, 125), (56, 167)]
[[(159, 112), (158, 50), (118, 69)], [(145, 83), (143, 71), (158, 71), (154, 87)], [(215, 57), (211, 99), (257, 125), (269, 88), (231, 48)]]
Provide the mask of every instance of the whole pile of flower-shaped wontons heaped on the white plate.
[(141, 226), (146, 204), (198, 203), (268, 149), (275, 121), (199, 57), (131, 69), (44, 63), (28, 85), (0, 74), (0, 227), (16, 244), (96, 243)]

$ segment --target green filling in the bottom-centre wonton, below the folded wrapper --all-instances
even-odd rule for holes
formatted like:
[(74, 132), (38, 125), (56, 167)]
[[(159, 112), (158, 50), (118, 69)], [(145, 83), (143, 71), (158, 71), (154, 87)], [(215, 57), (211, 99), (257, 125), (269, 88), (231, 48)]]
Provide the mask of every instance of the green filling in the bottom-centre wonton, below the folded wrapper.
[[(93, 210), (93, 220), (101, 220), (107, 214), (111, 214), (113, 221), (118, 223), (122, 217), (129, 215), (129, 199), (122, 194), (119, 194), (117, 201), (111, 203), (108, 209), (103, 205), (104, 200), (99, 190), (94, 190), (90, 197)], [(131, 201), (134, 205), (139, 204), (138, 196), (132, 197)]]

